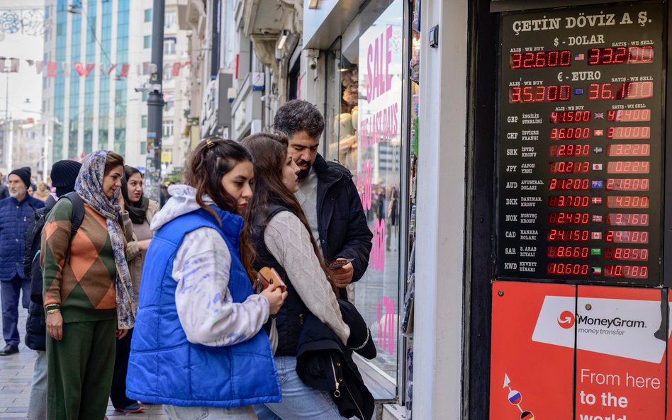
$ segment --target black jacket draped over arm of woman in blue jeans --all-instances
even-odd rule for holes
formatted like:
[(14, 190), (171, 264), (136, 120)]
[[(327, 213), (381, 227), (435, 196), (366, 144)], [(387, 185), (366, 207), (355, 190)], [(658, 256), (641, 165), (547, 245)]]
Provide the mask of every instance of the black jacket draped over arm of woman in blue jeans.
[(296, 373), (309, 387), (329, 391), (341, 416), (373, 416), (374, 397), (352, 361), (352, 351), (310, 312), (298, 339)]

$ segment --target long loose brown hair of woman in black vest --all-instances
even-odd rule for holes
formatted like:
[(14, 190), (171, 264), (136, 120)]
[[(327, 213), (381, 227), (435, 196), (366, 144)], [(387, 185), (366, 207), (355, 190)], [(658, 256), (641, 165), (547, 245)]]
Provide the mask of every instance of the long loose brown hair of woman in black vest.
[[(247, 147), (254, 157), (254, 195), (250, 200), (249, 210), (245, 220), (248, 229), (263, 229), (265, 226), (262, 220), (265, 220), (269, 213), (269, 204), (274, 203), (289, 208), (301, 220), (301, 223), (310, 235), (310, 243), (313, 245), (313, 252), (320, 261), (320, 266), (332, 286), (332, 290), (338, 297), (337, 289), (329, 276), (327, 266), (320, 256), (318, 244), (313, 238), (313, 234), (308, 225), (306, 215), (298, 203), (294, 193), (282, 182), (282, 169), (287, 161), (287, 147), (289, 140), (281, 134), (271, 134), (260, 132), (242, 140), (241, 144)], [(252, 211), (254, 210), (254, 211)]]

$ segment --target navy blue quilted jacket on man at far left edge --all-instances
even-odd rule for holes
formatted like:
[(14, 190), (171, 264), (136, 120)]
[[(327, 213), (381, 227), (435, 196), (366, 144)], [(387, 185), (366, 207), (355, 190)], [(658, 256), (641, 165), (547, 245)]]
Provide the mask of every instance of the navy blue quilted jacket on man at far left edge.
[(23, 235), (28, 222), (38, 208), (45, 203), (26, 195), (21, 203), (16, 198), (0, 200), (0, 281), (9, 281), (23, 273)]

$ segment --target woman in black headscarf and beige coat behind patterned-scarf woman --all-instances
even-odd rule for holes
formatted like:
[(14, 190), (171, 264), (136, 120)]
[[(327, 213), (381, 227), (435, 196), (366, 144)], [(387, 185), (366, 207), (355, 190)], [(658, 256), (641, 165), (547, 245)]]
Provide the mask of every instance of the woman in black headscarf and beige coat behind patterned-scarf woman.
[[(133, 224), (133, 239), (128, 242), (126, 257), (130, 278), (133, 280), (135, 302), (138, 302), (138, 294), (140, 293), (142, 263), (145, 261), (145, 254), (152, 240), (150, 224), (156, 212), (159, 211), (159, 203), (145, 197), (143, 186), (144, 179), (140, 171), (133, 166), (125, 166), (124, 178), (121, 181), (121, 195), (123, 196), (125, 210), (128, 211), (128, 217)], [(125, 414), (139, 413), (145, 409), (135, 399), (126, 397), (126, 373), (128, 371), (128, 356), (130, 355), (130, 340), (132, 337), (133, 329), (129, 329), (128, 334), (123, 339), (117, 340), (112, 390), (110, 392), (114, 409)]]

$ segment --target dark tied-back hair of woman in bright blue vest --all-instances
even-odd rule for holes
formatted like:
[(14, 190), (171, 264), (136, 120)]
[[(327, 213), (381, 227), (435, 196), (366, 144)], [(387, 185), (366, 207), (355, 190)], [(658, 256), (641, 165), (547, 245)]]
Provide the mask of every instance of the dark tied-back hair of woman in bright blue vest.
[[(254, 162), (250, 152), (233, 140), (224, 140), (221, 137), (208, 137), (196, 146), (184, 169), (184, 181), (196, 188), (196, 203), (206, 212), (215, 217), (219, 225), (222, 221), (213, 208), (203, 201), (203, 195), (208, 195), (218, 208), (238, 214), (238, 203), (222, 186), (222, 177), (228, 174), (237, 164), (249, 161)], [(256, 277), (252, 269), (254, 248), (247, 240), (247, 229), (240, 234), (240, 261), (250, 276), (250, 282)]]

